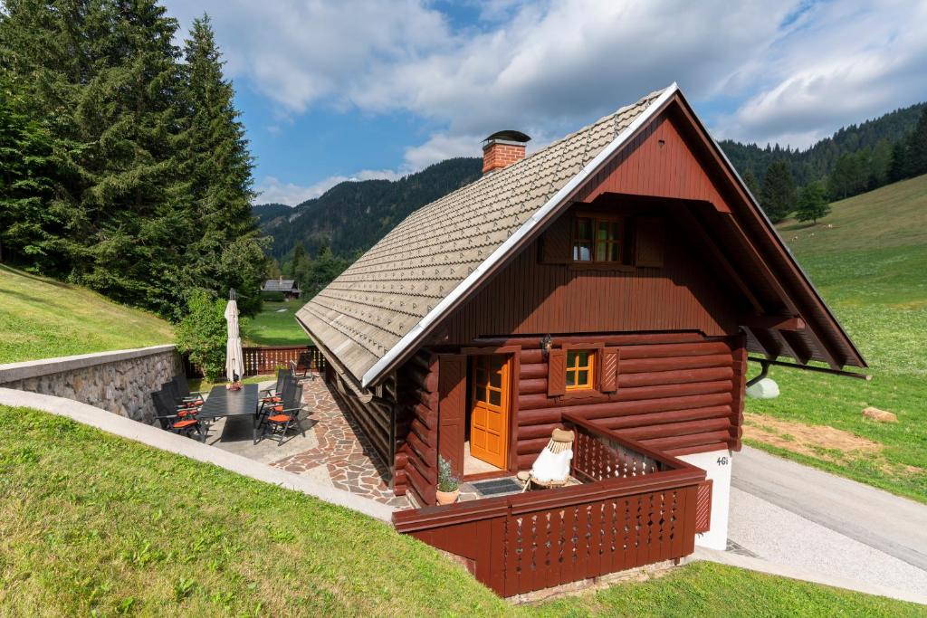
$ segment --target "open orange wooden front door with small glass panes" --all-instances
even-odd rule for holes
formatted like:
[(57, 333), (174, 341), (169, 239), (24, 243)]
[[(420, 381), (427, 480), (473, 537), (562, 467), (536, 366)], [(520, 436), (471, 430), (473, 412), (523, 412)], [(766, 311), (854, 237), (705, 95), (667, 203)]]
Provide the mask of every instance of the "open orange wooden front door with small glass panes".
[(479, 354), (473, 357), (470, 454), (497, 468), (508, 468), (509, 357)]

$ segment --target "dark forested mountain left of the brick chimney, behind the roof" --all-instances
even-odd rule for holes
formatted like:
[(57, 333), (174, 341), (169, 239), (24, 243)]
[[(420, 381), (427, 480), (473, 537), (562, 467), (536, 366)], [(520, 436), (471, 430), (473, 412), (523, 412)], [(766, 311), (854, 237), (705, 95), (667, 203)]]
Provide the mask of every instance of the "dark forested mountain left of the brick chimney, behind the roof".
[(282, 210), (254, 208), (261, 230), (273, 236), (273, 258), (283, 261), (301, 243), (312, 256), (324, 247), (352, 257), (375, 244), (413, 210), (481, 175), (482, 158), (450, 158), (398, 181), (339, 183), (324, 195)]

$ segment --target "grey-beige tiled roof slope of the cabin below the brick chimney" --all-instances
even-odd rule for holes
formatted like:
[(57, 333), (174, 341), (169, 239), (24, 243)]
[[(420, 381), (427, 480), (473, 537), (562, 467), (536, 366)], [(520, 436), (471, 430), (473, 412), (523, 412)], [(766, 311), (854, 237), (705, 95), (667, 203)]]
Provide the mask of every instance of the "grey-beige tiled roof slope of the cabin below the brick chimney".
[(419, 208), (299, 309), (298, 320), (360, 382), (664, 92)]

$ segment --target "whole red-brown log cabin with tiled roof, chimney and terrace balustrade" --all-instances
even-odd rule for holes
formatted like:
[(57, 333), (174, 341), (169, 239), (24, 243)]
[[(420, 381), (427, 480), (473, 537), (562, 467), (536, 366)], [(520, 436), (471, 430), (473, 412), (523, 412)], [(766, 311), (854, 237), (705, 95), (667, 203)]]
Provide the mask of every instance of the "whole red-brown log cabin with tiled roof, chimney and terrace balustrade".
[[(397, 528), (503, 596), (724, 549), (748, 355), (866, 367), (676, 84), (527, 139), (297, 317), (417, 507)], [(439, 457), (511, 476), (556, 428), (580, 485), (432, 506)]]

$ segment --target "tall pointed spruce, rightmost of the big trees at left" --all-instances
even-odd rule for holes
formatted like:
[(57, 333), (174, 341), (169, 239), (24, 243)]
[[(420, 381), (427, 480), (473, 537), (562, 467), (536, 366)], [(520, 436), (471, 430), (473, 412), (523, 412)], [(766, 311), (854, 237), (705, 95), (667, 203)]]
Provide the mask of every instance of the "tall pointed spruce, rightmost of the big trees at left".
[(184, 59), (190, 124), (183, 169), (199, 233), (186, 246), (187, 276), (220, 296), (235, 287), (242, 312), (253, 313), (260, 309), (263, 251), (251, 216), (252, 159), (209, 16), (194, 20)]

